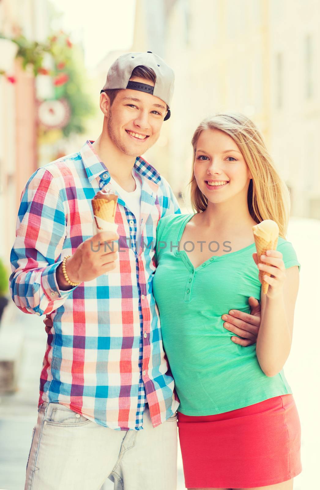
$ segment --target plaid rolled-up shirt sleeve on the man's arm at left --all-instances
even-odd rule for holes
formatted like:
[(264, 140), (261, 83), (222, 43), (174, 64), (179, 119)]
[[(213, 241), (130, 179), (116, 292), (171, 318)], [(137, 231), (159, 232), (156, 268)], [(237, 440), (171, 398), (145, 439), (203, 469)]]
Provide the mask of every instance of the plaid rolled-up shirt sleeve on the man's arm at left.
[(40, 168), (23, 189), (10, 255), (9, 289), (24, 313), (49, 314), (77, 287), (60, 291), (57, 284), (65, 239), (66, 215), (59, 188), (53, 175)]

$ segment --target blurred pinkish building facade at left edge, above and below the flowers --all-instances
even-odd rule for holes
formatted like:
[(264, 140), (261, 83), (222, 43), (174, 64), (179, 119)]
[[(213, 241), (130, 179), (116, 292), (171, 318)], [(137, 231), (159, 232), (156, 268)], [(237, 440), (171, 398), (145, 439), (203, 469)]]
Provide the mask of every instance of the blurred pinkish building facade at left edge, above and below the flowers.
[[(28, 39), (43, 40), (46, 21), (46, 1), (0, 1), (0, 32), (6, 38), (23, 33)], [(21, 193), (38, 167), (35, 78), (32, 71), (22, 69), (16, 51), (14, 43), (0, 39), (0, 68), (14, 81), (0, 76), (0, 257), (8, 267)]]

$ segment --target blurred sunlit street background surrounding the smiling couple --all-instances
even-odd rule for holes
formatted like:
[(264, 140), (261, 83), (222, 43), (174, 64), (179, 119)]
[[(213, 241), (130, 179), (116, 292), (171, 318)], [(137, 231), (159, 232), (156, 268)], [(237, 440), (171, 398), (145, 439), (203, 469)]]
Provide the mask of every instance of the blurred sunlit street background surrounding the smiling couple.
[[(0, 490), (23, 489), (46, 345), (43, 318), (21, 313), (8, 290), (21, 193), (37, 168), (99, 136), (100, 90), (127, 51), (153, 51), (175, 71), (171, 118), (144, 157), (183, 212), (191, 212), (193, 131), (221, 110), (258, 125), (290, 190), (287, 239), (301, 263), (285, 366), (302, 426), (294, 489), (319, 485), (319, 25), (319, 0), (0, 0), (0, 309), (8, 300), (0, 319)], [(184, 490), (180, 455), (178, 463)]]

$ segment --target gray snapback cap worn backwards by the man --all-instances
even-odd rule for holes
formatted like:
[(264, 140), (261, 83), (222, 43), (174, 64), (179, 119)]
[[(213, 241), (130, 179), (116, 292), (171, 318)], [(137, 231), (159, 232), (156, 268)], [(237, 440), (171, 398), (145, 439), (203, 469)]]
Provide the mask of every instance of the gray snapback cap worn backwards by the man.
[[(147, 83), (129, 82), (131, 73), (137, 66), (152, 68), (156, 73), (156, 83), (153, 87)], [(125, 53), (119, 56), (111, 65), (107, 74), (106, 83), (101, 92), (112, 89), (133, 89), (146, 92), (159, 97), (170, 107), (174, 90), (175, 75), (165, 61), (157, 54), (148, 51), (146, 53)], [(170, 109), (164, 118), (169, 119)]]

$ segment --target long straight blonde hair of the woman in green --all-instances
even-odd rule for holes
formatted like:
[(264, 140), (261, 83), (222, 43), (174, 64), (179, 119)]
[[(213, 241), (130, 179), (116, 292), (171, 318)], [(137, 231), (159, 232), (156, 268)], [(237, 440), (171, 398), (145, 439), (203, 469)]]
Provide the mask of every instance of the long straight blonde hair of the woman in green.
[(285, 239), (290, 213), (289, 190), (275, 170), (274, 162), (257, 127), (240, 113), (226, 112), (207, 118), (199, 124), (193, 134), (193, 164), (189, 182), (193, 209), (198, 213), (205, 211), (208, 203), (194, 176), (197, 142), (205, 129), (219, 129), (238, 145), (252, 175), (248, 189), (251, 217), (257, 223), (274, 220), (279, 226), (279, 235)]

